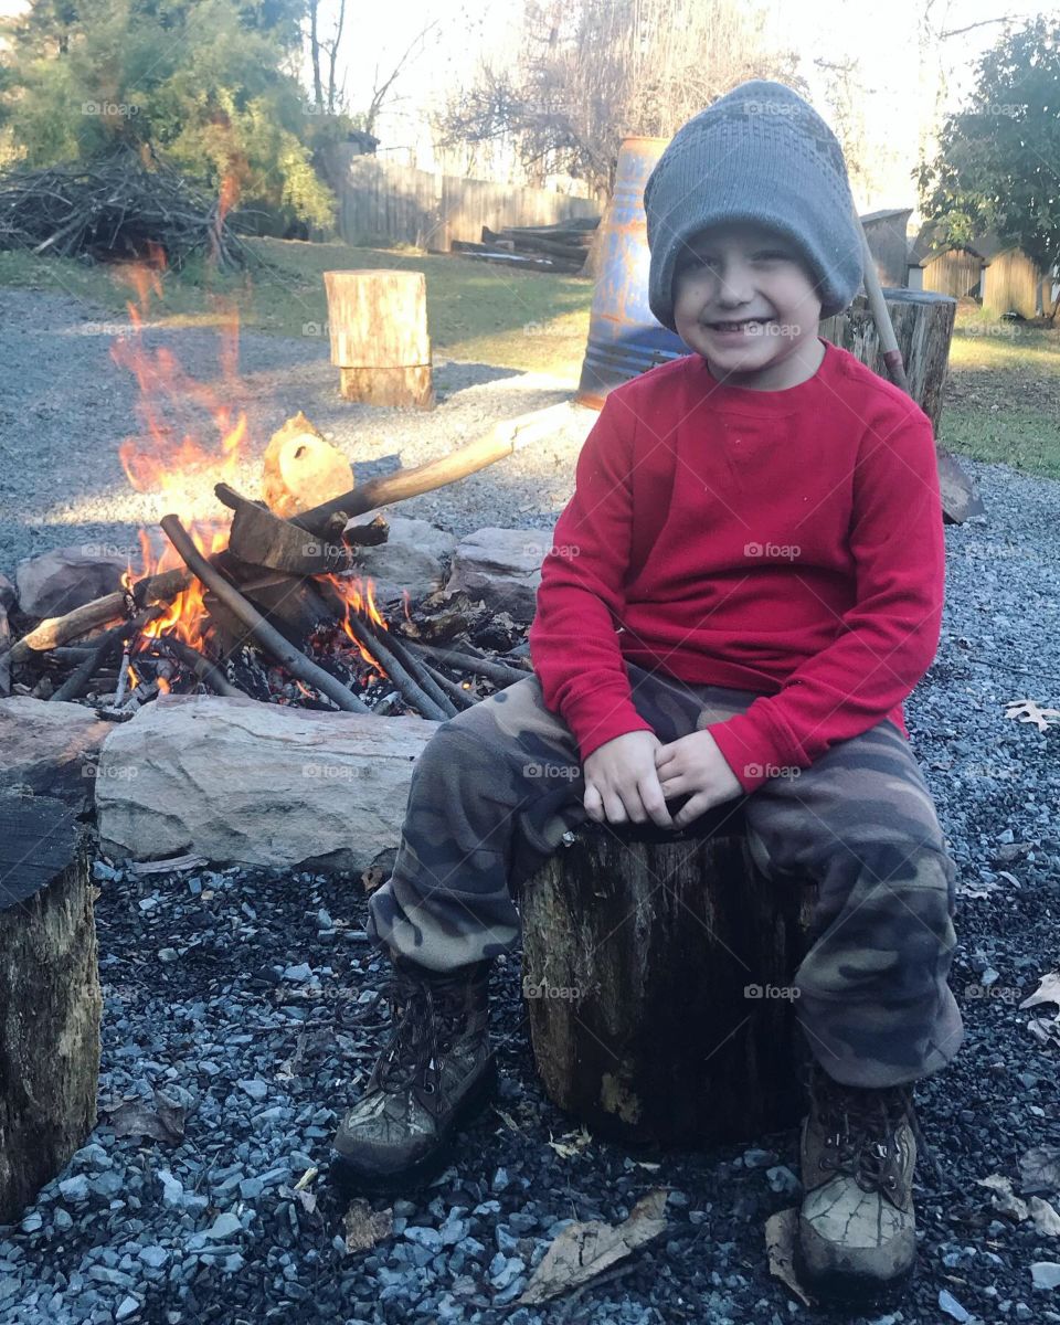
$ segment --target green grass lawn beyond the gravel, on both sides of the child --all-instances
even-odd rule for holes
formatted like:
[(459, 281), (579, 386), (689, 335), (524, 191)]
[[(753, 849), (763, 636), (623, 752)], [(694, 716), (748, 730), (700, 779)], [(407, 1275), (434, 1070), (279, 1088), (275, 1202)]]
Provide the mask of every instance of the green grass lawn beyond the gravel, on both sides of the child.
[[(576, 383), (592, 282), (518, 272), (417, 249), (252, 240), (268, 265), (217, 277), (197, 266), (163, 278), (151, 317), (171, 325), (217, 321), (238, 309), (242, 326), (277, 335), (326, 335), (322, 273), (398, 268), (427, 276), (427, 315), (440, 356), (550, 372)], [(0, 285), (94, 299), (125, 310), (129, 285), (114, 268), (0, 252)], [(1060, 478), (1060, 321), (1056, 330), (990, 322), (962, 303), (950, 346), (939, 440), (975, 460)]]

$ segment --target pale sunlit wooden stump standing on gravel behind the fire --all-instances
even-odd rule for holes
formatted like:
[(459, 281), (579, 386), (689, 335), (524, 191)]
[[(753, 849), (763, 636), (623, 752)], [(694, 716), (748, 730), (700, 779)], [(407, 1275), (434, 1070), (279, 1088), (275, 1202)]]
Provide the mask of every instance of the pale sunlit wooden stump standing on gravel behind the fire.
[(433, 409), (423, 272), (325, 272), (323, 282), (343, 399)]

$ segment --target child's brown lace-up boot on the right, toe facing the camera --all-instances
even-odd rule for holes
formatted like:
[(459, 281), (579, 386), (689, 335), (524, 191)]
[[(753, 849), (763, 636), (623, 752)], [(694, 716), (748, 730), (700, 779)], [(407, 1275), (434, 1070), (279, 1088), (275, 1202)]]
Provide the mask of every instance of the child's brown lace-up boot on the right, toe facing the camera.
[(909, 1085), (860, 1089), (811, 1060), (795, 1273), (828, 1301), (892, 1302), (916, 1273), (913, 1167), (920, 1134)]

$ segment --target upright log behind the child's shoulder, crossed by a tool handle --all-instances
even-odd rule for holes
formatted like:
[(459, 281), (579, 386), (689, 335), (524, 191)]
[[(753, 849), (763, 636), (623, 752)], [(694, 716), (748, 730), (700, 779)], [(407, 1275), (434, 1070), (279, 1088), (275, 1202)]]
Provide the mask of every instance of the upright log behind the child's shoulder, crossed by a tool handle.
[[(937, 437), (957, 299), (931, 290), (896, 290), (884, 286), (884, 302), (902, 352), (909, 394), (931, 420)], [(825, 318), (820, 323), (820, 334), (825, 341), (849, 350), (885, 380), (890, 380), (876, 323), (864, 295), (856, 298), (845, 313)]]

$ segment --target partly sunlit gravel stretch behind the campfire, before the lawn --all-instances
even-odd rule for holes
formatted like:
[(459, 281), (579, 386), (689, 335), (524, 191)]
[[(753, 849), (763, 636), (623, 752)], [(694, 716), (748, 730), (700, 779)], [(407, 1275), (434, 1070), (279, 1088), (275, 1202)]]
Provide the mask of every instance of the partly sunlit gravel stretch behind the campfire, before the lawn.
[[(77, 299), (5, 290), (4, 374), (0, 376), (0, 571), (53, 547), (90, 543), (131, 547), (136, 529), (170, 510), (228, 517), (213, 496), (217, 474), (186, 480), (170, 496), (136, 493), (118, 448), (143, 433), (139, 390), (110, 347), (129, 321)], [(501, 419), (556, 404), (570, 383), (481, 363), (435, 362), (436, 409), (376, 409), (338, 395), (338, 368), (327, 341), (242, 333), (237, 380), (221, 374), (221, 337), (211, 327), (159, 329), (142, 335), (154, 359), (174, 354), (193, 382), (217, 400), (246, 411), (245, 460), (229, 480), (258, 496), (261, 454), (269, 437), (302, 409), (354, 464), (355, 482), (425, 464), (474, 440)], [(187, 429), (213, 454), (219, 435), (207, 409), (187, 398), (162, 401), (162, 421)], [(574, 429), (576, 432), (576, 428)], [(484, 525), (551, 529), (574, 490), (580, 440), (560, 433), (517, 452), (449, 489), (400, 504), (401, 515), (429, 519), (457, 537)]]

